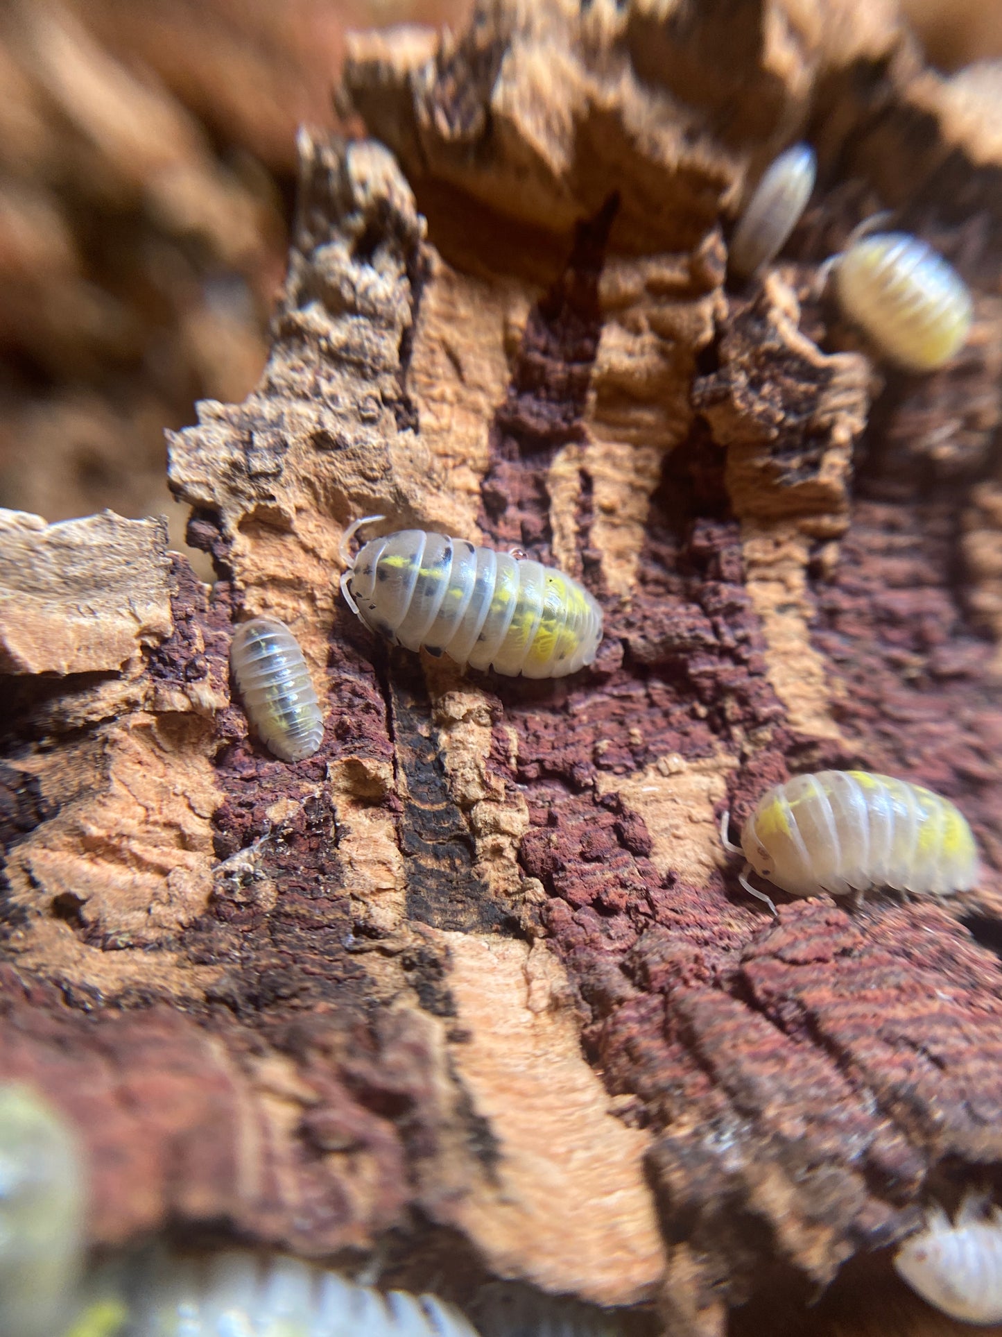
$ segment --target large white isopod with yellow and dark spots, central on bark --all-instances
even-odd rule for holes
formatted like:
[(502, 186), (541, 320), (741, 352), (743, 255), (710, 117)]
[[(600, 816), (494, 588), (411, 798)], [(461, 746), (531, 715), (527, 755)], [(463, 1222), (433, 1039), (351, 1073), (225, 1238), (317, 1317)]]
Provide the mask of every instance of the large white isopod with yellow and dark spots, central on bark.
[(603, 612), (572, 576), (424, 529), (373, 539), (351, 562), (355, 531), (382, 519), (355, 520), (341, 545), (341, 591), (373, 631), (512, 678), (564, 678), (595, 660)]

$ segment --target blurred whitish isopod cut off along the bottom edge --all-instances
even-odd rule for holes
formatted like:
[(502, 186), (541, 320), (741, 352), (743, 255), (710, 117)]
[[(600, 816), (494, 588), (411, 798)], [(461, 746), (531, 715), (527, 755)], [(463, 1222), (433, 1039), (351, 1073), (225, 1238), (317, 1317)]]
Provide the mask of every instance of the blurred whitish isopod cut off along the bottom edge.
[(434, 1296), (386, 1294), (298, 1258), (162, 1254), (132, 1273), (123, 1337), (477, 1337)]

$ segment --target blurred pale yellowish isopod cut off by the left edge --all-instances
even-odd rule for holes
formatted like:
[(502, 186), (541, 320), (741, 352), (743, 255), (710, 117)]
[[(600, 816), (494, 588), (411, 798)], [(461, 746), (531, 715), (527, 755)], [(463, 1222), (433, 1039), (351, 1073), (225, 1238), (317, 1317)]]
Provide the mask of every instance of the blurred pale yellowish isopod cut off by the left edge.
[(76, 1304), (83, 1161), (72, 1130), (29, 1087), (0, 1086), (0, 1333), (52, 1337)]

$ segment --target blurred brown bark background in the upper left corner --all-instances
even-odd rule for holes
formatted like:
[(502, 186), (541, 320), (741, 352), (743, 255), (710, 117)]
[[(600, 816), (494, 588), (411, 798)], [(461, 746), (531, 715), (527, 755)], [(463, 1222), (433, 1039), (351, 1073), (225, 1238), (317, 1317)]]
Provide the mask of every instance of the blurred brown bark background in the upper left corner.
[(295, 131), (333, 124), (346, 31), (461, 9), (4, 5), (0, 505), (48, 520), (164, 512), (183, 548), (163, 428), (190, 422), (195, 400), (242, 398), (265, 365)]

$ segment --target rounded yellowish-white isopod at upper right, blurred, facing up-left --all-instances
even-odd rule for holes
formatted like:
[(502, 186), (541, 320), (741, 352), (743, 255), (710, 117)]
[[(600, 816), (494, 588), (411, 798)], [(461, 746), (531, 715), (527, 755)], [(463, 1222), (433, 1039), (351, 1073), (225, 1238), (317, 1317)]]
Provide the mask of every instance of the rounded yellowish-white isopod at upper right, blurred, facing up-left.
[(872, 233), (835, 259), (844, 314), (892, 362), (933, 372), (963, 348), (973, 303), (961, 275), (907, 233)]

